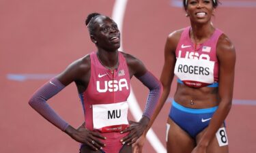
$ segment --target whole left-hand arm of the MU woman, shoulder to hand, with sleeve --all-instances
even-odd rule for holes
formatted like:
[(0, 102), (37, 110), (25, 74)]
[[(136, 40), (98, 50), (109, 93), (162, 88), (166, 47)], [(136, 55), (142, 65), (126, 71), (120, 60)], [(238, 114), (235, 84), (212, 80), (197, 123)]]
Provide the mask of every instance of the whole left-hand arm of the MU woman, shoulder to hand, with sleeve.
[[(39, 88), (29, 100), (29, 105), (46, 118), (46, 120), (70, 135), (74, 140), (85, 143), (94, 150), (98, 150), (104, 146), (98, 138), (104, 139), (104, 137), (98, 133), (88, 131), (84, 126), (80, 126), (79, 129), (74, 129), (74, 127), (63, 120), (47, 103), (48, 99), (57, 95), (58, 92), (72, 82), (76, 82), (76, 86), (78, 86), (80, 91), (85, 90), (89, 82), (89, 71), (89, 56), (75, 61), (69, 65), (65, 71)], [(91, 141), (95, 141), (95, 143), (92, 144)]]

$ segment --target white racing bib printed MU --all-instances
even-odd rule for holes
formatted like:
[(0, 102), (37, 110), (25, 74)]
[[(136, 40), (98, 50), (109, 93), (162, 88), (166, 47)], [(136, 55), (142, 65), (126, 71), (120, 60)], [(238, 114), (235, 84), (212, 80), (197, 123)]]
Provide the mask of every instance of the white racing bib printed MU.
[(123, 131), (128, 126), (128, 103), (92, 105), (94, 129), (102, 133)]

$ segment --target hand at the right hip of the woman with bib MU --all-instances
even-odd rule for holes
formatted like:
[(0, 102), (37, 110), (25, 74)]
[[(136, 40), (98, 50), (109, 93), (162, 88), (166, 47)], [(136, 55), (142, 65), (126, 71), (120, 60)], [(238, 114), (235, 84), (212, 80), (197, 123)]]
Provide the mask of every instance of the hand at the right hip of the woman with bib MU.
[(149, 124), (150, 119), (146, 116), (143, 116), (139, 122), (131, 122), (130, 126), (124, 131), (121, 131), (121, 133), (127, 133), (130, 132), (126, 137), (121, 139), (121, 142), (123, 144), (131, 145), (132, 143), (136, 142), (139, 137), (143, 134), (145, 129), (147, 128), (147, 125)]

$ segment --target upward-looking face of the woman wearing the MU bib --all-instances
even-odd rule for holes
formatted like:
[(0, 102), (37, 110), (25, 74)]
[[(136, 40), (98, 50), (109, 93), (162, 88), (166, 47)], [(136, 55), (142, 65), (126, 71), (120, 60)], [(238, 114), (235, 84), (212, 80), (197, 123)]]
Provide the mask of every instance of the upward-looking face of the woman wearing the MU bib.
[(98, 16), (94, 22), (94, 39), (96, 46), (107, 51), (115, 51), (120, 47), (120, 31), (117, 24), (109, 17)]

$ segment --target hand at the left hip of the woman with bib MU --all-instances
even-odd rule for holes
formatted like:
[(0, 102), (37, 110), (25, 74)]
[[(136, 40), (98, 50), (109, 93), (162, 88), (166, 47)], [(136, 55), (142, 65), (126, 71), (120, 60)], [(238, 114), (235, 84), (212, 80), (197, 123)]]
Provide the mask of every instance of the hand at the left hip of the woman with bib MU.
[(74, 140), (89, 146), (93, 150), (102, 150), (102, 147), (105, 146), (100, 139), (106, 139), (106, 137), (94, 131), (89, 131), (85, 128), (85, 123), (79, 126), (78, 129), (68, 126), (65, 132)]

